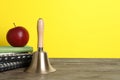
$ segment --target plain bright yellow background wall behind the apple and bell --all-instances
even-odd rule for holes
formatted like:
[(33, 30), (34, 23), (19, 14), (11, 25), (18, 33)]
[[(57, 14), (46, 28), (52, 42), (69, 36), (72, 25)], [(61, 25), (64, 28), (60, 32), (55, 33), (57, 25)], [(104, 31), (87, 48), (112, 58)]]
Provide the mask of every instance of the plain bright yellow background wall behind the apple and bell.
[(37, 49), (36, 23), (45, 21), (44, 50), (51, 58), (120, 58), (119, 0), (0, 0), (0, 46), (16, 25)]

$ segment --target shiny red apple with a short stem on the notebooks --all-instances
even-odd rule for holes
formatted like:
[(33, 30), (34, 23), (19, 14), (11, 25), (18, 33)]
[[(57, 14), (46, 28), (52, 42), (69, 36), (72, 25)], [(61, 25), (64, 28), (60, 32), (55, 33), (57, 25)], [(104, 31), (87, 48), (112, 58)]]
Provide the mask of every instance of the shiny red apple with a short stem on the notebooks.
[(6, 38), (11, 46), (23, 47), (29, 41), (29, 33), (24, 27), (16, 26), (7, 32)]

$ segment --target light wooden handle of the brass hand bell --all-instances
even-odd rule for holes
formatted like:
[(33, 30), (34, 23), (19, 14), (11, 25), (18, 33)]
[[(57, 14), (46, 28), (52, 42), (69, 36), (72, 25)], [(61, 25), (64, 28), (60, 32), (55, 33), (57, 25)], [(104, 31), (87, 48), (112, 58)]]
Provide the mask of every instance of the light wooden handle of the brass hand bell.
[(38, 32), (38, 48), (43, 50), (43, 33), (44, 33), (44, 21), (42, 18), (38, 19), (37, 22), (37, 32)]

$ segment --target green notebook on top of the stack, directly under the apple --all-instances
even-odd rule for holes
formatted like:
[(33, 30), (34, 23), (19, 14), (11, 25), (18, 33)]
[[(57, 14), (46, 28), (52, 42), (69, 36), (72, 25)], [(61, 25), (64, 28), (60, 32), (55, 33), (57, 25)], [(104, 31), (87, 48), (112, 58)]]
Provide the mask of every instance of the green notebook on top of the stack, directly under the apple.
[(24, 53), (32, 51), (33, 47), (30, 46), (25, 47), (0, 46), (0, 53)]

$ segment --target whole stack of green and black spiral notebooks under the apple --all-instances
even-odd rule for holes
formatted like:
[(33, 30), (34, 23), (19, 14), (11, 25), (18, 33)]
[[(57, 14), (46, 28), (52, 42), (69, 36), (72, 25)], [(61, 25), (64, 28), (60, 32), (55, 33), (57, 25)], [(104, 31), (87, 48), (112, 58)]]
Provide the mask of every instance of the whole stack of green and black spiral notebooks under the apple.
[(27, 67), (32, 59), (32, 47), (0, 47), (0, 72)]

